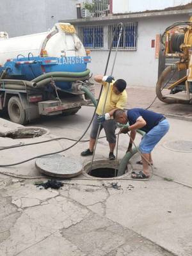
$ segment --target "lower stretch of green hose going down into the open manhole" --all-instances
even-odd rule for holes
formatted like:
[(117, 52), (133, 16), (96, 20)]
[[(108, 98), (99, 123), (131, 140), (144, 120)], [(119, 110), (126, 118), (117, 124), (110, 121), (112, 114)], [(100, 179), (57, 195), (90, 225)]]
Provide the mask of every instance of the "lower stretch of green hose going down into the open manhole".
[[(140, 133), (142, 136), (145, 135), (145, 132), (141, 131), (141, 130), (137, 130), (138, 133)], [(134, 154), (136, 154), (138, 152), (138, 148), (134, 147), (132, 148), (131, 152), (127, 152), (125, 154), (125, 156), (122, 158), (122, 160), (120, 161), (119, 167), (118, 167), (118, 176), (120, 175), (124, 175), (125, 170), (127, 168), (127, 164), (129, 163), (129, 160), (131, 159), (132, 156), (134, 156)]]

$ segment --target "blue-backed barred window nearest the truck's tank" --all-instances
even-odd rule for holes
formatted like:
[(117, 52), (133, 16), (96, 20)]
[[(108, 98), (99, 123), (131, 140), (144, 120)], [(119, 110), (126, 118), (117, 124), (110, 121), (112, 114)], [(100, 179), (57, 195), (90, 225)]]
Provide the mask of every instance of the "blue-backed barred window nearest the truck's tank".
[(78, 26), (78, 35), (85, 48), (97, 49), (103, 47), (103, 26)]

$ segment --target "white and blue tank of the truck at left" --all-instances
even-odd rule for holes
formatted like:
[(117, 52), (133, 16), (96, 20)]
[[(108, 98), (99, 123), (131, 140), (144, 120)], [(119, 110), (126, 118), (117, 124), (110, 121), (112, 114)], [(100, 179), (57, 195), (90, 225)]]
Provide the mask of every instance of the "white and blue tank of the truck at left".
[[(49, 72), (84, 72), (90, 56), (69, 23), (56, 23), (47, 32), (0, 40), (0, 72), (4, 79), (31, 81)], [(57, 82), (61, 90), (72, 83)]]

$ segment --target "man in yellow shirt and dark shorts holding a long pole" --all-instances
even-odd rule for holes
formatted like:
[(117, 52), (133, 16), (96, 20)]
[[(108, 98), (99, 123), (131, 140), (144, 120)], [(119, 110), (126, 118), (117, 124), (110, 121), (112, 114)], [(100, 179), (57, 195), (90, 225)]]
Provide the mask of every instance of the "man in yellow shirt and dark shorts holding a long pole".
[[(115, 159), (113, 154), (115, 145), (116, 145), (116, 122), (113, 120), (113, 113), (116, 109), (124, 109), (127, 102), (127, 92), (125, 91), (126, 82), (123, 79), (118, 79), (114, 81), (114, 78), (111, 76), (95, 76), (95, 81), (97, 83), (103, 84), (102, 94), (100, 96), (99, 104), (95, 116), (93, 118), (92, 131), (90, 134), (90, 145), (89, 148), (81, 152), (81, 156), (91, 156), (93, 154), (93, 148), (95, 146), (95, 140), (97, 138), (97, 131), (104, 128), (106, 132), (106, 138), (109, 143), (109, 159)], [(108, 83), (109, 83), (109, 92), (108, 92)], [(106, 99), (106, 94), (108, 93), (108, 98), (106, 100), (106, 106), (104, 108), (104, 102)], [(104, 115), (103, 113), (104, 108)]]

